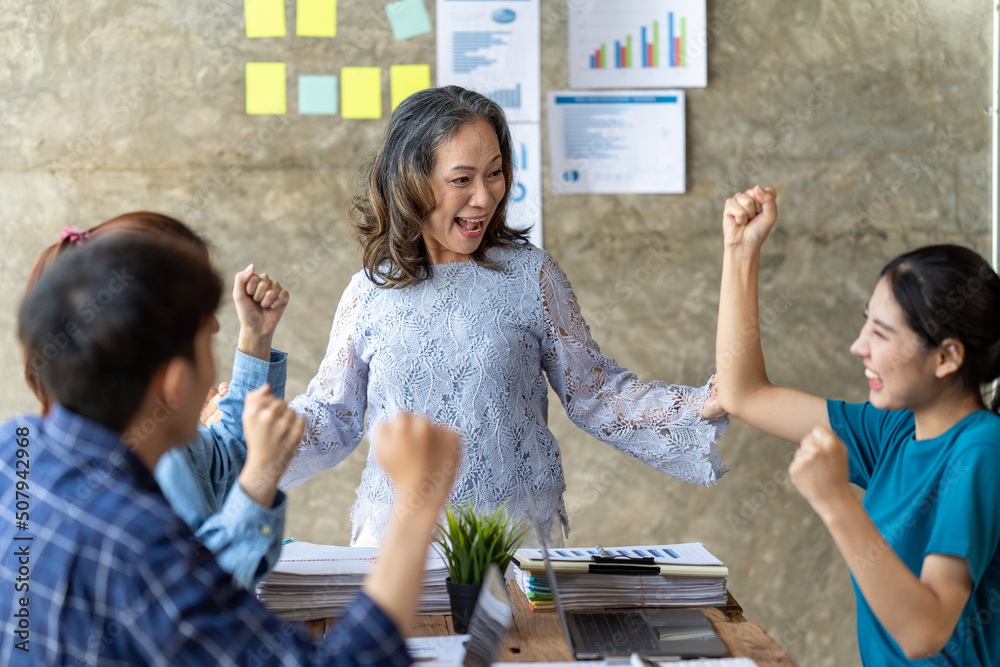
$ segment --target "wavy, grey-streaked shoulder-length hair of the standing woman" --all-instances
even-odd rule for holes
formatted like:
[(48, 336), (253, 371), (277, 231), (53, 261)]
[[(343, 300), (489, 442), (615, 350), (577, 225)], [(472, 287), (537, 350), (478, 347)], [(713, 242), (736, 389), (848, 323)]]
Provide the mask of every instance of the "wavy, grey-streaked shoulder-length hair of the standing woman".
[(382, 143), (362, 168), (360, 192), (351, 200), (351, 223), (364, 252), (368, 277), (380, 286), (406, 287), (431, 277), (421, 228), (435, 207), (429, 184), (437, 149), (463, 127), (484, 120), (497, 134), (505, 187), (472, 261), (489, 268), (494, 246), (526, 242), (525, 231), (507, 224), (514, 182), (514, 144), (507, 117), (496, 102), (459, 86), (428, 88), (403, 100)]

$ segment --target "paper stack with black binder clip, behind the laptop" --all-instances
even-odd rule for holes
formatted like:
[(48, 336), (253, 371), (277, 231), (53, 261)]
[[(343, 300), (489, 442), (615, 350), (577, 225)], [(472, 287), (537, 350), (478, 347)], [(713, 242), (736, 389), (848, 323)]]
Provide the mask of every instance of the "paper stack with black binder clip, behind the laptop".
[[(595, 562), (594, 556), (605, 558)], [(611, 556), (613, 560), (608, 560)], [(729, 570), (700, 543), (549, 549), (567, 611), (605, 607), (697, 607), (726, 603)], [(539, 549), (519, 549), (514, 574), (535, 611), (552, 610), (552, 589)], [(617, 573), (616, 570), (622, 573)]]

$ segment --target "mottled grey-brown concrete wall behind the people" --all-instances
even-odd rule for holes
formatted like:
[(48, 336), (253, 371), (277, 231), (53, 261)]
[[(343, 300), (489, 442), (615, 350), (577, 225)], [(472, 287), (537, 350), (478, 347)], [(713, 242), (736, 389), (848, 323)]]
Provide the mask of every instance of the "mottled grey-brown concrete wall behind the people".
[[(290, 355), (289, 395), (302, 392), (360, 266), (347, 201), (384, 120), (248, 117), (244, 63), (287, 62), (294, 111), (298, 74), (379, 65), (387, 93), (389, 65), (433, 63), (433, 34), (395, 42), (383, 3), (360, 0), (341, 0), (333, 40), (248, 40), (239, 0), (4, 5), (3, 414), (35, 409), (13, 333), (34, 258), (64, 225), (136, 209), (204, 233), (227, 276), (253, 261), (291, 288), (276, 345)], [(645, 380), (700, 384), (714, 363), (722, 202), (773, 185), (781, 218), (761, 288), (771, 379), (863, 399), (848, 346), (880, 267), (930, 242), (989, 251), (990, 6), (709, 0), (708, 14), (709, 86), (687, 96), (687, 194), (546, 193), (546, 248), (607, 354)], [(565, 88), (564, 0), (542, 0), (542, 43), (543, 87)], [(220, 320), (226, 377), (231, 304)], [(722, 443), (732, 471), (694, 487), (594, 440), (551, 402), (572, 543), (702, 541), (729, 564), (747, 617), (800, 664), (860, 664), (847, 568), (787, 482), (791, 446), (734, 423)], [(346, 543), (366, 453), (290, 493), (289, 535)]]

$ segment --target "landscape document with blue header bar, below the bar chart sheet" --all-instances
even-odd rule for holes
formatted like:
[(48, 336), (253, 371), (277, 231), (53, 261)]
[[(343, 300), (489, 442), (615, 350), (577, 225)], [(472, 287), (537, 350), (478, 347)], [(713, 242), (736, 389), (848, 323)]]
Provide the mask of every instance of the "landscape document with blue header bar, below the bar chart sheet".
[(549, 91), (560, 194), (684, 192), (684, 91)]

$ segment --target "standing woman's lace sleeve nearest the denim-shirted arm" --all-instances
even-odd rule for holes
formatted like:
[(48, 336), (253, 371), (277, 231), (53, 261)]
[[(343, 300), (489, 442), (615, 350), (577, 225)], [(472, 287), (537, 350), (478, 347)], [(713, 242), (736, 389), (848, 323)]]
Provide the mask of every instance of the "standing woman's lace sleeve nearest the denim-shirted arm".
[(352, 281), (340, 299), (316, 377), (306, 393), (289, 404), (305, 418), (306, 430), (278, 485), (283, 490), (346, 459), (364, 435), (368, 366), (358, 354), (355, 338), (361, 312), (358, 283)]

